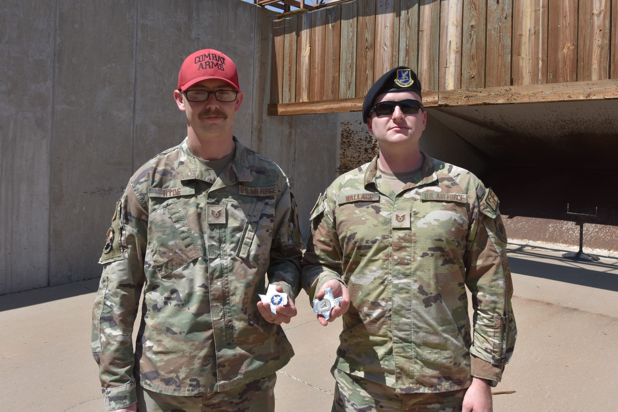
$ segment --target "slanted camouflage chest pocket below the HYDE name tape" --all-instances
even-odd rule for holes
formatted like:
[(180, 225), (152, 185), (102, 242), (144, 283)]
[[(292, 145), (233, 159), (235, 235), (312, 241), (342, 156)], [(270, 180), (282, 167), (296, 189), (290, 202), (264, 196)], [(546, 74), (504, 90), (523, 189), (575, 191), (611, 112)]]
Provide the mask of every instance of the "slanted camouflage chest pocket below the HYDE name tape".
[(197, 239), (177, 199), (172, 199), (148, 216), (146, 266), (167, 275), (201, 256)]

